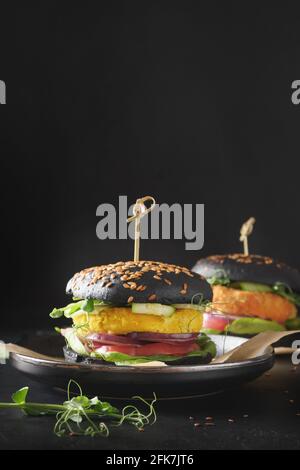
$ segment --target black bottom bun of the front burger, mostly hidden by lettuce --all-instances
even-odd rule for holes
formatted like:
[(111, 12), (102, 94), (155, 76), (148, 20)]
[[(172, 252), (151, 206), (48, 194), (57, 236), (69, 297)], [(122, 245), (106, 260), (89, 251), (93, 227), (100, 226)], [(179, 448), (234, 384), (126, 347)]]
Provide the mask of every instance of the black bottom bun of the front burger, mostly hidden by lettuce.
[[(103, 359), (98, 359), (98, 358), (94, 359), (93, 357), (89, 357), (89, 356), (81, 356), (80, 354), (77, 354), (75, 351), (68, 348), (67, 346), (63, 348), (63, 351), (64, 351), (64, 356), (67, 362), (84, 364), (84, 365), (91, 365), (91, 364), (100, 365), (101, 364), (101, 365), (107, 365), (110, 367), (116, 366), (114, 362), (108, 362), (108, 361), (105, 361)], [(166, 364), (168, 364), (168, 366), (202, 365), (202, 364), (210, 363), (213, 357), (214, 356), (211, 353), (207, 352), (205, 356), (180, 357), (178, 360), (172, 360), (170, 362), (166, 361)], [(138, 364), (135, 364), (135, 366), (138, 366)]]

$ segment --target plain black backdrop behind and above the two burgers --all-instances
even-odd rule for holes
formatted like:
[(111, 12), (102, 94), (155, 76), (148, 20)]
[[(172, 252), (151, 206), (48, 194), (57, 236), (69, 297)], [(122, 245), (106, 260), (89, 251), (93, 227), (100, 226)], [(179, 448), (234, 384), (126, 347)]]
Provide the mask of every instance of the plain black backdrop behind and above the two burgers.
[(95, 233), (118, 195), (205, 203), (201, 252), (143, 258), (239, 250), (254, 215), (250, 249), (300, 267), (300, 9), (223, 3), (1, 5), (2, 327), (49, 326), (74, 272), (132, 257)]

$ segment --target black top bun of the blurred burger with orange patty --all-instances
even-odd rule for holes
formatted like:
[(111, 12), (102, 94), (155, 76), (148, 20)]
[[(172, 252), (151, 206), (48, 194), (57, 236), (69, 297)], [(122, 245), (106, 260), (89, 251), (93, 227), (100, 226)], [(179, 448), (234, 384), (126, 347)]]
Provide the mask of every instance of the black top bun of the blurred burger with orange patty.
[[(283, 282), (300, 292), (300, 272), (284, 263), (259, 255), (215, 255), (200, 259), (192, 271), (205, 278), (224, 272), (231, 281), (274, 285)], [(222, 275), (222, 274), (221, 274)]]

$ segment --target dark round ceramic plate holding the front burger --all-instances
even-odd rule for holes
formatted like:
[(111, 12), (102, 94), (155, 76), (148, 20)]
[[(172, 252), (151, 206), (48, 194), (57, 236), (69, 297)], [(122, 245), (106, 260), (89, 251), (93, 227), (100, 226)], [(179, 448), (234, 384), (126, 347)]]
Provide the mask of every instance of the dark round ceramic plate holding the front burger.
[[(211, 336), (218, 354), (235, 348), (245, 338)], [(251, 381), (270, 369), (274, 363), (271, 347), (256, 359), (238, 363), (181, 365), (167, 367), (128, 367), (112, 364), (69, 363), (63, 358), (62, 339), (56, 335), (31, 335), (20, 343), (34, 351), (61, 356), (55, 362), (13, 353), (10, 362), (32, 379), (56, 388), (66, 388), (70, 379), (80, 383), (86, 393), (101, 397), (130, 398), (133, 395), (181, 398), (218, 393)]]

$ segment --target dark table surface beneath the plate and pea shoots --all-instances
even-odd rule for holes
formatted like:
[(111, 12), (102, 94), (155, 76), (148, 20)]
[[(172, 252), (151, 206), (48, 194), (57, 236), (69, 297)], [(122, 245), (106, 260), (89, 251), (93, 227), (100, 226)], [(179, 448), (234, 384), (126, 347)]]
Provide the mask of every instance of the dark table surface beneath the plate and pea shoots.
[[(9, 364), (0, 366), (0, 401), (25, 385), (30, 401), (64, 400), (62, 393), (29, 380)], [(156, 424), (144, 432), (122, 426), (108, 438), (59, 438), (52, 432), (52, 417), (0, 410), (0, 449), (299, 449), (300, 367), (292, 365), (290, 356), (278, 357), (269, 373), (242, 388), (160, 402), (157, 413)], [(213, 424), (206, 424), (207, 417)]]

